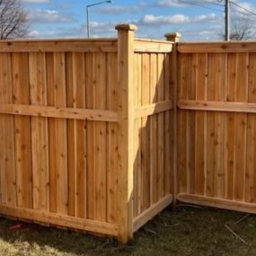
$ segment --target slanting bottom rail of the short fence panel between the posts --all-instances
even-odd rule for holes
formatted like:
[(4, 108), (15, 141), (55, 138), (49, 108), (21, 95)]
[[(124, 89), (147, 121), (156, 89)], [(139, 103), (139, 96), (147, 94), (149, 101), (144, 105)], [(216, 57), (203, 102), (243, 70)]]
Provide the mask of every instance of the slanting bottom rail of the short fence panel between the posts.
[(168, 207), (170, 204), (172, 204), (171, 194), (166, 195), (163, 199), (160, 199), (158, 202), (154, 203), (152, 207), (146, 209), (146, 211), (133, 220), (133, 232), (136, 232), (141, 226), (145, 225), (146, 222), (162, 212), (163, 209)]

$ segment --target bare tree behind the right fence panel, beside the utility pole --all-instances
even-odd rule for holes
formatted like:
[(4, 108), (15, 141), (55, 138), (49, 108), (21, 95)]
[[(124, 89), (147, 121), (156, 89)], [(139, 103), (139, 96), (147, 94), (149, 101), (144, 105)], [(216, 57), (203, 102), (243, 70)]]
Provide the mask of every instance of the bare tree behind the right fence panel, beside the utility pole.
[(255, 38), (255, 21), (250, 15), (231, 20), (230, 40), (252, 40)]

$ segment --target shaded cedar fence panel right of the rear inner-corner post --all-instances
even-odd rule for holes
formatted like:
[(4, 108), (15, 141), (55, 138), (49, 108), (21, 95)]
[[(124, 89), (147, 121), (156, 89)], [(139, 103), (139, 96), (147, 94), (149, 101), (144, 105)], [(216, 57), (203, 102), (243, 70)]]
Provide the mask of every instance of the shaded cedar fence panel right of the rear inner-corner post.
[(256, 56), (230, 45), (178, 46), (178, 199), (254, 212)]

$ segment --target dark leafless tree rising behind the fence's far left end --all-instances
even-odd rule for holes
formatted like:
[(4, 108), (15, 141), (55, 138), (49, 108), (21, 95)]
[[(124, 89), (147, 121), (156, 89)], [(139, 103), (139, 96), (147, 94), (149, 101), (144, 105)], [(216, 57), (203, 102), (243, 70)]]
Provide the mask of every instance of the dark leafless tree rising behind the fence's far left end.
[(19, 0), (0, 0), (0, 40), (24, 37), (28, 33), (27, 17)]

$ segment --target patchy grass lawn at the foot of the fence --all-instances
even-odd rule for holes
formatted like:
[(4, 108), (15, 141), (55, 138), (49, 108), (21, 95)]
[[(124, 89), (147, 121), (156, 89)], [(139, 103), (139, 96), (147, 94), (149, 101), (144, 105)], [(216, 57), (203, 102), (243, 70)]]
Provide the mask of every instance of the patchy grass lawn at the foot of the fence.
[[(0, 255), (256, 255), (256, 216), (207, 207), (169, 208), (128, 245), (0, 218)], [(243, 238), (240, 241), (235, 234)]]

